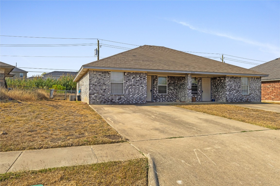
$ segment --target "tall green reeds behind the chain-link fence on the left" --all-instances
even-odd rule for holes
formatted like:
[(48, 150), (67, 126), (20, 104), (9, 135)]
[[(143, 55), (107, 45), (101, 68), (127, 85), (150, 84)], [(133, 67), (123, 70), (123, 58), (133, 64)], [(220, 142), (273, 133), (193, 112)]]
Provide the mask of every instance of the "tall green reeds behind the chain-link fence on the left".
[(74, 76), (61, 76), (59, 79), (52, 78), (51, 76), (47, 78), (42, 78), (41, 76), (33, 76), (32, 79), (8, 77), (6, 78), (6, 82), (8, 85), (32, 86), (46, 89), (51, 88), (53, 85), (61, 85), (65, 86), (66, 90), (76, 90), (76, 82), (73, 82), (73, 80)]

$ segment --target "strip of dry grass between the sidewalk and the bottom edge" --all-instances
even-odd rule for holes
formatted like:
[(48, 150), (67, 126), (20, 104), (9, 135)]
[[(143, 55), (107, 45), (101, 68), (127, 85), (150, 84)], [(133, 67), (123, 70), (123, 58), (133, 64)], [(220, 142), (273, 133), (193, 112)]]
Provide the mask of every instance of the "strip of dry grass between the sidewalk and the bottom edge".
[(145, 186), (148, 185), (147, 174), (148, 159), (141, 158), (5, 173), (0, 175), (0, 184), (3, 186), (29, 186), (36, 184), (44, 186)]

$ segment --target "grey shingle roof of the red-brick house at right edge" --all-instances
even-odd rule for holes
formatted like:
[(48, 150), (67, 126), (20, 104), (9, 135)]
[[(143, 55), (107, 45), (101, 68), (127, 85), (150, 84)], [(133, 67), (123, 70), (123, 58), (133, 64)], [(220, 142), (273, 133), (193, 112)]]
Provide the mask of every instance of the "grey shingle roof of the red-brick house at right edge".
[(280, 57), (250, 69), (269, 74), (268, 77), (262, 77), (262, 80), (280, 79)]

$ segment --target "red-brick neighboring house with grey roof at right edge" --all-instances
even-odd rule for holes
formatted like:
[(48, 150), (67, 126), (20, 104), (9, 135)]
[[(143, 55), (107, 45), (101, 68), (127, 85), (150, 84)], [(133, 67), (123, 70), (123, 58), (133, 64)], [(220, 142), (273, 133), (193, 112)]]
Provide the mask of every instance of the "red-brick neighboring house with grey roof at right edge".
[(280, 101), (280, 58), (250, 69), (269, 74), (262, 77), (262, 100)]

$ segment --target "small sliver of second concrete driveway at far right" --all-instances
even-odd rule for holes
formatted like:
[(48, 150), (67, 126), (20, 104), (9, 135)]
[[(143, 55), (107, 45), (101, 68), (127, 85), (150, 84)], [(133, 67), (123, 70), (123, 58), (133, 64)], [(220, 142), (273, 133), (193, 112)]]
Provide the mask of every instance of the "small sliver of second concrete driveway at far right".
[(230, 105), (236, 105), (239, 107), (255, 108), (272, 112), (280, 112), (279, 104), (272, 103), (225, 103)]

